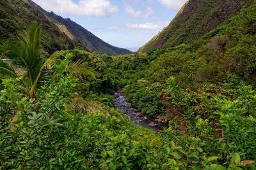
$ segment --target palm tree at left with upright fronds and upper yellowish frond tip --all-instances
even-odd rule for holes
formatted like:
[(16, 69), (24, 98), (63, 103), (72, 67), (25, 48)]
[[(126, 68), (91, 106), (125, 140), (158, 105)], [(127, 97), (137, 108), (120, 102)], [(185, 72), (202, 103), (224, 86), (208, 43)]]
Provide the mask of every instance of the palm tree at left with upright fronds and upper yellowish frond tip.
[[(22, 67), (26, 72), (23, 75), (23, 83), (28, 87), (29, 97), (35, 97), (35, 89), (42, 76), (42, 72), (45, 68), (51, 69), (52, 61), (56, 60), (57, 53), (55, 52), (51, 57), (47, 58), (40, 46), (40, 35), (42, 25), (38, 25), (36, 22), (31, 25), (28, 32), (20, 34), (18, 40), (11, 39), (5, 41), (0, 45), (0, 52), (2, 57), (6, 57), (11, 60), (12, 64)], [(73, 73), (78, 75), (85, 74), (95, 76), (88, 65), (81, 62), (70, 64)], [(0, 73), (12, 77), (17, 77), (13, 67), (0, 61)]]

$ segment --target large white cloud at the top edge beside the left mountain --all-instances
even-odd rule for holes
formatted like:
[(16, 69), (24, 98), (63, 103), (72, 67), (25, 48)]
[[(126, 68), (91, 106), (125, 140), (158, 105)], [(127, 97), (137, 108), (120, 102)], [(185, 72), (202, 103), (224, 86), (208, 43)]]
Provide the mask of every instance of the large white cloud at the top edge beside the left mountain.
[(72, 0), (33, 0), (48, 11), (71, 15), (92, 15), (107, 17), (118, 11), (118, 7), (109, 0), (80, 0), (78, 4)]

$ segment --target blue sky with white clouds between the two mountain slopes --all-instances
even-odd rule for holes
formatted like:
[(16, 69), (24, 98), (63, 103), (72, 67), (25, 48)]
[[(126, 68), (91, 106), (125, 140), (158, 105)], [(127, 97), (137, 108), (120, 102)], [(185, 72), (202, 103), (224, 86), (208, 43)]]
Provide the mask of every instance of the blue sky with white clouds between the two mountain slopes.
[(187, 0), (33, 0), (107, 43), (137, 50), (172, 21)]

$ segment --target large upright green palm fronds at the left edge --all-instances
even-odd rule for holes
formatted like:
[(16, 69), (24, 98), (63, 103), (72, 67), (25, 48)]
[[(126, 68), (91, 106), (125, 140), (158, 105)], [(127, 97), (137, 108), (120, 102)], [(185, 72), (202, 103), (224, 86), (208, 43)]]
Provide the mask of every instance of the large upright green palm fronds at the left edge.
[(40, 48), (41, 29), (42, 25), (35, 22), (28, 32), (20, 34), (18, 41), (10, 39), (0, 45), (2, 55), (10, 59), (12, 64), (23, 67), (28, 71), (31, 86), (38, 78), (40, 69), (46, 60), (42, 48)]

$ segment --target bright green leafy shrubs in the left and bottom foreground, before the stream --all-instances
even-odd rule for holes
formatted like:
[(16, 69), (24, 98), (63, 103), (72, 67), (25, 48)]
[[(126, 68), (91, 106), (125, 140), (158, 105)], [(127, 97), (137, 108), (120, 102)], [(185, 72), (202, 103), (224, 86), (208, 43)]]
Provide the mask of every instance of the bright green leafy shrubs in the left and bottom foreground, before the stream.
[[(200, 152), (199, 138), (181, 139), (188, 145), (182, 148), (173, 143), (172, 128), (157, 135), (113, 108), (87, 115), (67, 110), (78, 81), (67, 74), (68, 62), (54, 64), (37, 99), (19, 92), (18, 79), (3, 80), (1, 169), (225, 169), (211, 164), (218, 157)], [(237, 153), (232, 159), (233, 169), (252, 163)]]

